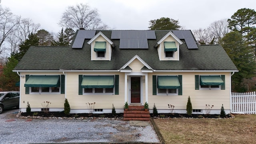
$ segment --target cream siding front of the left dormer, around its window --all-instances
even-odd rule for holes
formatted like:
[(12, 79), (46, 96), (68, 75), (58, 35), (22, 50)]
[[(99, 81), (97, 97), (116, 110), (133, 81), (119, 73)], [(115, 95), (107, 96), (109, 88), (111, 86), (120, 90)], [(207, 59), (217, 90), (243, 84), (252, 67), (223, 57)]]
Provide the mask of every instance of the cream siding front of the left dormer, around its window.
[[(106, 42), (105, 58), (96, 58), (96, 52), (94, 52), (95, 42)], [(103, 38), (103, 36), (99, 36), (91, 44), (92, 60), (110, 60), (111, 59), (110, 50), (111, 50), (111, 44), (107, 40), (105, 40), (105, 38)]]

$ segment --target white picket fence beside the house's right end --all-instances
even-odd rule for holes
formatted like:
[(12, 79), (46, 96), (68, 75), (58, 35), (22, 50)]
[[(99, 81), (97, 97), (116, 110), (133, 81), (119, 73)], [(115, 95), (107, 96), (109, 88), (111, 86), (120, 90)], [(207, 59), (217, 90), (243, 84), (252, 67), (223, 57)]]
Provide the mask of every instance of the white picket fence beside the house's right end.
[(231, 113), (256, 114), (256, 92), (232, 92)]

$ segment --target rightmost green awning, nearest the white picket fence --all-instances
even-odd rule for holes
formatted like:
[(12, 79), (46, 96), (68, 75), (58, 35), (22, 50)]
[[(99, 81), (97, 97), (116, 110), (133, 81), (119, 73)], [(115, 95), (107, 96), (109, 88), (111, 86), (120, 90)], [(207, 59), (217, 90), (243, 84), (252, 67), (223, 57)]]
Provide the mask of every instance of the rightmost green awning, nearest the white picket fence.
[(200, 85), (224, 85), (220, 76), (200, 76)]

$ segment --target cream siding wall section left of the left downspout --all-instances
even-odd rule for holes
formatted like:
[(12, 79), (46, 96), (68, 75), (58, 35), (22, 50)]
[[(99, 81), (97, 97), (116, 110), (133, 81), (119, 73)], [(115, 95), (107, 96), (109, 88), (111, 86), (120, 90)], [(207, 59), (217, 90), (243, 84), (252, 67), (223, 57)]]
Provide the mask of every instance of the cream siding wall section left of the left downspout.
[(20, 108), (26, 108), (28, 102), (31, 108), (42, 108), (42, 102), (51, 102), (50, 108), (64, 108), (65, 94), (25, 94), (24, 84), (26, 82), (26, 74), (28, 75), (61, 75), (62, 73), (26, 73), (21, 72), (21, 93)]

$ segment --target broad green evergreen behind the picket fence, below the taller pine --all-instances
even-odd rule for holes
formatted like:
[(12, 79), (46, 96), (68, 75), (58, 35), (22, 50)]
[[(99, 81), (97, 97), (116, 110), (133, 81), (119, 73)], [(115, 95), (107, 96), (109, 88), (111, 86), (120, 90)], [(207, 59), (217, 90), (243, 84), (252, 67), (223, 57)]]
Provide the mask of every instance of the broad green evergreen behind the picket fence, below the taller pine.
[(247, 90), (242, 84), (245, 78), (252, 78), (255, 72), (256, 62), (252, 48), (243, 40), (243, 36), (239, 32), (230, 32), (222, 38), (222, 47), (238, 68), (232, 76), (232, 91), (244, 92)]

